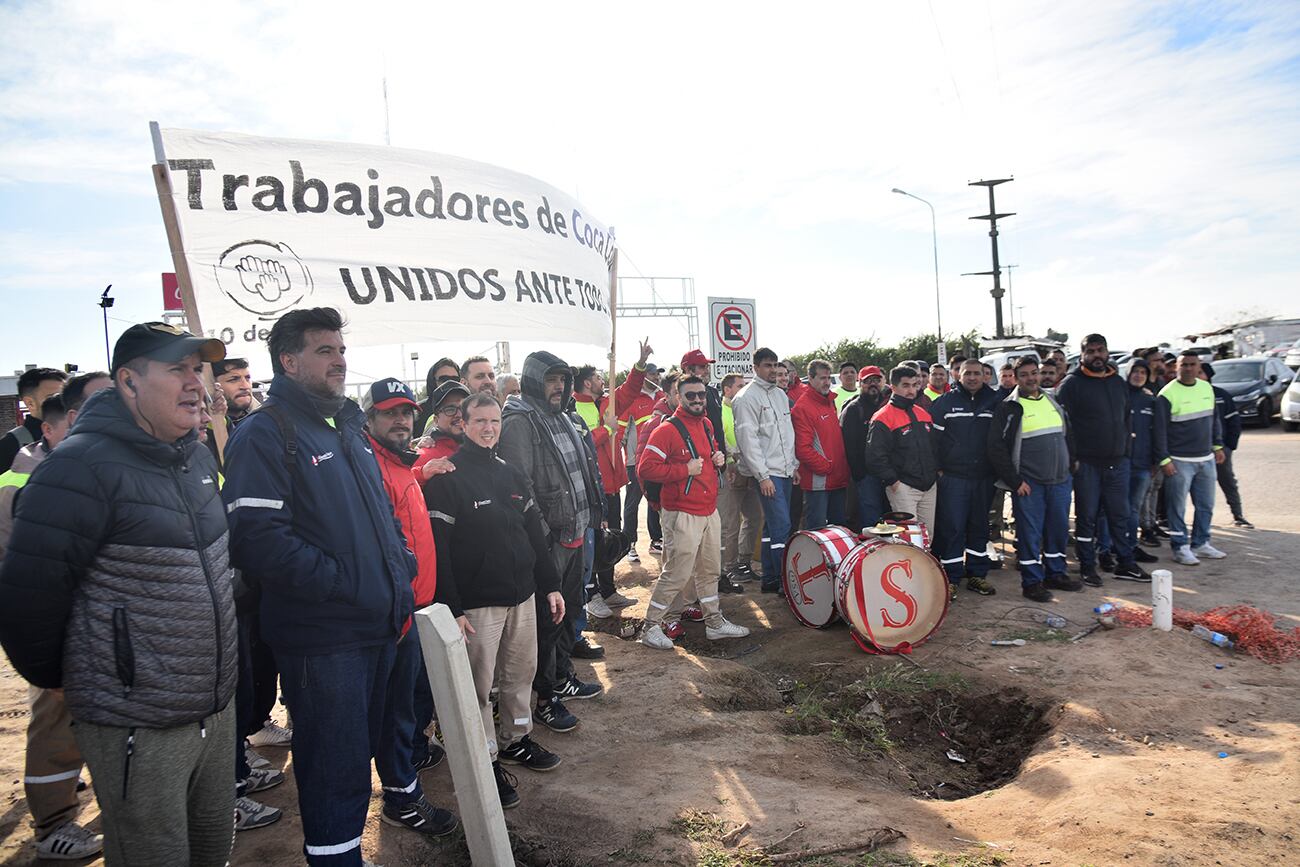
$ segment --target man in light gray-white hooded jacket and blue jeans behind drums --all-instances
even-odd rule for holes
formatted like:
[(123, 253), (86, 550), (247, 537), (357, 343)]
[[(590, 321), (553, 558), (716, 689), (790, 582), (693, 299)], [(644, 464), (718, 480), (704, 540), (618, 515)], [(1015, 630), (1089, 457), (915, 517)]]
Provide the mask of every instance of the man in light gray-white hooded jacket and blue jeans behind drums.
[(754, 352), (754, 381), (732, 400), (736, 419), (736, 465), (758, 481), (763, 504), (763, 593), (781, 591), (785, 542), (790, 536), (790, 491), (800, 481), (794, 458), (790, 400), (776, 383), (776, 352)]

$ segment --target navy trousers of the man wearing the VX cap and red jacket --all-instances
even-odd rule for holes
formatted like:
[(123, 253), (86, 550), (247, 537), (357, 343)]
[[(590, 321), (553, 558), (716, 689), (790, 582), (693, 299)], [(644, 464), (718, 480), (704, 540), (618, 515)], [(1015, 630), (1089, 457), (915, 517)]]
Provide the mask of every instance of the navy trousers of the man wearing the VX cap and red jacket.
[[(419, 801), (424, 792), (420, 777), (411, 762), (419, 719), (415, 712), (416, 680), (424, 673), (424, 655), (420, 653), (420, 633), (415, 624), (398, 642), (389, 672), (389, 692), (384, 697), (384, 728), (374, 745), (374, 770), (384, 786), (384, 803), (400, 806)], [(428, 720), (425, 720), (428, 724)], [(425, 750), (429, 749), (425, 741)]]

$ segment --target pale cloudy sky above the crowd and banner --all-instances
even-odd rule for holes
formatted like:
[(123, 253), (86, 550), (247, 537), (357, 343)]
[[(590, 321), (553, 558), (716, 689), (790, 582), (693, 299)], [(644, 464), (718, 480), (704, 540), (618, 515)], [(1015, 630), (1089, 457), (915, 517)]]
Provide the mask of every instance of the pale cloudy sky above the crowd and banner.
[[(933, 329), (930, 212), (892, 187), (937, 211), (945, 330), (991, 333), (989, 278), (961, 276), (989, 268), (967, 182), (1009, 175), (1002, 261), (1030, 333), (1128, 347), (1300, 316), (1294, 0), (9, 1), (0, 370), (101, 363), (107, 283), (110, 338), (159, 315), (150, 121), (378, 144), (385, 77), (394, 144), (576, 195), (618, 227), (624, 276), (755, 298), (781, 352)], [(619, 330), (686, 348), (681, 322)], [(516, 342), (516, 367), (543, 343)], [(354, 369), (400, 363), (367, 350)]]

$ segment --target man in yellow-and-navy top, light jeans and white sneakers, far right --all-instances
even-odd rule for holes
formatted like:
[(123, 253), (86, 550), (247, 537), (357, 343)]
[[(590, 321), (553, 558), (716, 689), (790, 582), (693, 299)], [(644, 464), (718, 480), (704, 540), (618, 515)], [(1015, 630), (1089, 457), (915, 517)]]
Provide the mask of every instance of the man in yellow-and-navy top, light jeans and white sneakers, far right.
[[(1214, 516), (1216, 464), (1223, 463), (1223, 428), (1214, 412), (1214, 389), (1200, 378), (1201, 359), (1187, 350), (1178, 356), (1178, 378), (1160, 390), (1156, 413), (1156, 460), (1165, 473), (1165, 512), (1174, 560), (1196, 565), (1201, 559), (1222, 560), (1226, 554), (1210, 545)], [(1187, 536), (1187, 494), (1196, 516)]]

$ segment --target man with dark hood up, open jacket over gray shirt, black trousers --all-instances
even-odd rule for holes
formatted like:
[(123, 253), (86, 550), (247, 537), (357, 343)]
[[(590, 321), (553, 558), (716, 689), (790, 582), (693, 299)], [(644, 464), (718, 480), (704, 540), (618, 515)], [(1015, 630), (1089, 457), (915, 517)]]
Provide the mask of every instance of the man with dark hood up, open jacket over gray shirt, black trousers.
[(588, 529), (601, 525), (604, 494), (584, 439), (585, 425), (567, 411), (573, 396), (569, 365), (550, 352), (533, 352), (524, 360), (520, 389), (506, 400), (497, 454), (532, 482), (566, 612), (563, 623), (552, 624), (550, 608), (542, 610), (545, 597), (538, 602), (534, 716), (551, 731), (569, 732), (577, 718), (563, 699), (604, 692), (580, 681), (571, 660), (575, 621), (582, 611), (582, 541)]

